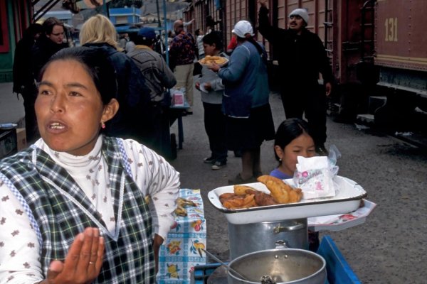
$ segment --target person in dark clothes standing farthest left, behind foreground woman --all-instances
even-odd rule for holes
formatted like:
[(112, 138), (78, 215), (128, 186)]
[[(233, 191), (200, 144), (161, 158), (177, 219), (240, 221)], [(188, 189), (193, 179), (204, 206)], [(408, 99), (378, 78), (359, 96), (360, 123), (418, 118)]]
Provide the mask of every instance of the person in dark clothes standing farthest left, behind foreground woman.
[(16, 44), (14, 57), (14, 92), (21, 94), (25, 111), (26, 138), (33, 140), (37, 133), (36, 112), (34, 102), (37, 97), (37, 87), (31, 67), (31, 49), (36, 39), (43, 32), (41, 24), (33, 23), (24, 32), (23, 37)]

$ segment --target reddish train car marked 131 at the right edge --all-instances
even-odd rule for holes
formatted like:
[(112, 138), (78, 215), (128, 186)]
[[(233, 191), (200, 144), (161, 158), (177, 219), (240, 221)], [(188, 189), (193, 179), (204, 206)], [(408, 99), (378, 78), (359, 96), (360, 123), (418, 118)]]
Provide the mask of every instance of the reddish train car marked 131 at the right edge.
[(376, 1), (377, 92), (387, 97), (375, 112), (376, 124), (427, 130), (422, 122), (427, 114), (426, 11), (424, 0)]

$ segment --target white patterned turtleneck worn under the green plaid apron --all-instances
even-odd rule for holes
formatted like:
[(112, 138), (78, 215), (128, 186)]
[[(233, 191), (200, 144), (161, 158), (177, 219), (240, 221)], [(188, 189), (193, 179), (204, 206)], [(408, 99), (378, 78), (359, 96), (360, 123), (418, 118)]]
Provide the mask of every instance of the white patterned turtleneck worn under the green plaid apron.
[[(102, 136), (88, 155), (75, 156), (48, 148), (42, 139), (35, 145), (70, 173), (85, 192), (110, 232), (115, 219), (109, 184), (107, 163), (102, 158)], [(130, 159), (130, 170), (144, 196), (149, 195), (154, 233), (166, 239), (174, 222), (175, 200), (179, 192), (179, 173), (164, 158), (136, 141), (125, 140), (123, 146)], [(166, 178), (164, 178), (166, 177)], [(38, 283), (43, 280), (40, 247), (36, 232), (23, 207), (0, 180), (0, 284)]]

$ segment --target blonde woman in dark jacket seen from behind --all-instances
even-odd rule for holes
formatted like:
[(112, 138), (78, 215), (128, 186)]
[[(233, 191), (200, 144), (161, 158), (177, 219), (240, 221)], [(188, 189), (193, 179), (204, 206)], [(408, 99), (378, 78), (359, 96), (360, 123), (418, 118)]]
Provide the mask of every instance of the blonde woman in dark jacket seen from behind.
[[(106, 124), (105, 132), (110, 136), (132, 138), (142, 142), (144, 129), (150, 123), (145, 117), (145, 115), (149, 117), (149, 90), (137, 65), (121, 52), (122, 48), (117, 43), (116, 35), (117, 31), (110, 19), (98, 14), (83, 23), (80, 43), (89, 48), (102, 50), (115, 67), (116, 99), (120, 109), (111, 122)], [(137, 124), (135, 121), (144, 121), (144, 124)]]

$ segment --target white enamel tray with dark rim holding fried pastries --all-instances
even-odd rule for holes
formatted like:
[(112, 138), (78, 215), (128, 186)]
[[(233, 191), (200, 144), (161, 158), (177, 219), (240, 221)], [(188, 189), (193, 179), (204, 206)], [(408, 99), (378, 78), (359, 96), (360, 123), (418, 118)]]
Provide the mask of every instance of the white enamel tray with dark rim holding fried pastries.
[[(300, 190), (295, 188), (292, 179), (283, 180), (283, 182), (288, 185), (287, 187), (291, 187), (289, 190), (292, 190), (292, 195), (296, 195), (296, 200), (287, 200), (285, 203), (271, 202), (270, 197), (267, 195), (271, 195), (274, 198), (275, 195), (283, 192), (275, 192), (275, 190), (269, 188), (268, 180), (265, 183), (254, 182), (245, 185), (246, 187), (252, 187), (251, 190), (258, 190), (267, 195), (260, 195), (259, 192), (247, 192), (247, 188), (238, 187), (236, 189), (235, 186), (229, 185), (211, 190), (208, 193), (208, 198), (216, 209), (225, 214), (227, 221), (231, 224), (249, 224), (345, 214), (359, 208), (360, 201), (367, 197), (367, 192), (357, 182), (340, 176), (334, 178), (338, 188), (334, 197), (311, 200), (307, 200), (303, 195), (300, 195)], [(228, 199), (233, 195), (239, 195), (238, 190), (242, 190), (245, 195), (237, 197), (235, 200)], [(261, 205), (254, 204), (254, 201), (255, 203), (258, 202), (257, 197), (258, 199), (263, 198), (265, 203)], [(226, 200), (228, 203), (224, 203)], [(241, 202), (243, 205), (239, 206), (240, 204), (237, 202)]]

